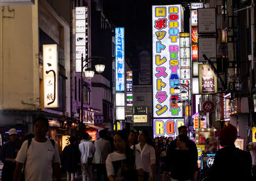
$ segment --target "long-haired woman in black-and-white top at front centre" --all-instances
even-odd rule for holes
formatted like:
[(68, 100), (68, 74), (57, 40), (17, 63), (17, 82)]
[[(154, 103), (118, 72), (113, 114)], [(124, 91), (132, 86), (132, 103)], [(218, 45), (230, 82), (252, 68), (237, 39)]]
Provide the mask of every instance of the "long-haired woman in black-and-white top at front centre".
[(106, 168), (110, 181), (143, 180), (143, 169), (140, 152), (128, 145), (127, 134), (124, 131), (116, 132), (114, 136), (115, 152), (106, 159)]

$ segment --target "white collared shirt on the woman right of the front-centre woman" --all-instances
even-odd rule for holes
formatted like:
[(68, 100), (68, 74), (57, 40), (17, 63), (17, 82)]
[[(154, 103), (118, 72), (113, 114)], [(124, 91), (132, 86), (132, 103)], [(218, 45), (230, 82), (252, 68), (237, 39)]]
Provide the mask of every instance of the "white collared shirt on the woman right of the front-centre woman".
[(135, 145), (135, 148), (136, 150), (140, 151), (143, 171), (148, 172), (151, 175), (151, 165), (156, 163), (156, 155), (153, 146), (150, 146), (146, 143), (141, 150), (139, 143)]

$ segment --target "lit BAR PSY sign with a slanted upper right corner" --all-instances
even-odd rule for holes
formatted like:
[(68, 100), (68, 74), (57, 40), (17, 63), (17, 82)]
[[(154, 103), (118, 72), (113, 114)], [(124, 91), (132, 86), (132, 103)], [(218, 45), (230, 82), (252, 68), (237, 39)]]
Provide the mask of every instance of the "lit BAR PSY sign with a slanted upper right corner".
[(216, 93), (218, 91), (217, 77), (211, 67), (206, 64), (198, 65), (199, 67), (199, 93)]

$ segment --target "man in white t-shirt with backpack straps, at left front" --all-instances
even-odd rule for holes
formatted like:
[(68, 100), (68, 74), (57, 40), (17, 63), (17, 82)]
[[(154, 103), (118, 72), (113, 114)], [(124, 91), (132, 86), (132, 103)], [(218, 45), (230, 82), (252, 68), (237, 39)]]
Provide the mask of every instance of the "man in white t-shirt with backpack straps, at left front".
[[(46, 138), (49, 128), (47, 118), (38, 117), (34, 121), (35, 138), (24, 141), (17, 157), (13, 181), (17, 181), (25, 164), (26, 181), (52, 181), (52, 170), (58, 181), (60, 175), (60, 156), (56, 143)], [(30, 142), (31, 141), (31, 142)], [(29, 144), (30, 142), (30, 144)]]

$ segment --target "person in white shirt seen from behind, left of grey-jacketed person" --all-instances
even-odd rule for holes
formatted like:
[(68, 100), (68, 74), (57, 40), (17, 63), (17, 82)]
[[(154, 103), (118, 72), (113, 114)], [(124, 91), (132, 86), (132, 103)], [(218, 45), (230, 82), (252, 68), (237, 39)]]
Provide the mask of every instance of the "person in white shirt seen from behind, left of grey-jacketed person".
[(95, 146), (89, 140), (90, 136), (87, 132), (83, 133), (82, 141), (79, 144), (79, 151), (81, 153), (81, 171), (83, 181), (92, 181), (92, 159), (95, 152)]

